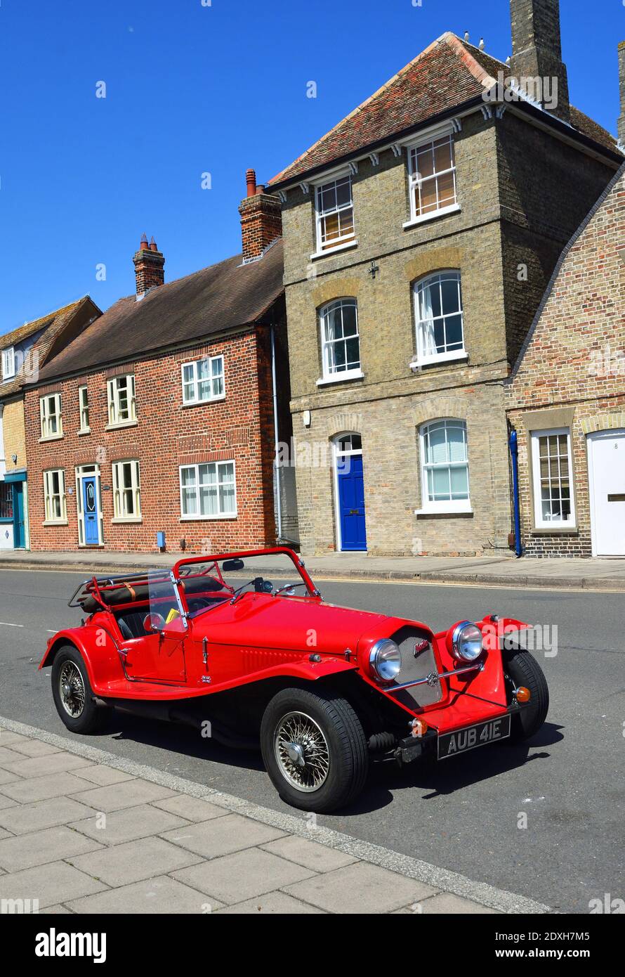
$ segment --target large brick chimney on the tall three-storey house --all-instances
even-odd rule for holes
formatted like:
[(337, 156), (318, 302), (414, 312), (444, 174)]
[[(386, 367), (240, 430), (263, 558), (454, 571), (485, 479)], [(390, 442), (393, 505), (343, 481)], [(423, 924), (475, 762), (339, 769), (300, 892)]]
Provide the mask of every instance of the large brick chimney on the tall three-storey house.
[[(528, 95), (568, 122), (568, 79), (562, 62), (560, 0), (510, 0), (512, 60), (510, 70)], [(555, 82), (558, 81), (556, 98)]]

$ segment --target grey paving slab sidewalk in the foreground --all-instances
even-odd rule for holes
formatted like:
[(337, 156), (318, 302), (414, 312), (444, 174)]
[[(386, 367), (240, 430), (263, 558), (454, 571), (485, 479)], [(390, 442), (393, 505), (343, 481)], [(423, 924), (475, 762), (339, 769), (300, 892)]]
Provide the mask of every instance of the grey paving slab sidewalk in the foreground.
[[(48, 766), (33, 762), (33, 743)], [(3, 912), (33, 901), (40, 913), (551, 912), (304, 812), (0, 717), (2, 771)]]

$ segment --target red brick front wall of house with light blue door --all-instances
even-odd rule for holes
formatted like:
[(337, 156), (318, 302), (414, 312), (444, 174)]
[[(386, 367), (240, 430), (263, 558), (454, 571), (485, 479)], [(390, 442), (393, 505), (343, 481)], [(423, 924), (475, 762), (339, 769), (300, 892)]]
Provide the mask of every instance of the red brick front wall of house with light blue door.
[[(228, 550), (274, 541), (271, 457), (271, 361), (269, 329), (259, 328), (183, 353), (137, 361), (63, 380), (25, 394), (28, 503), (33, 550), (78, 548), (75, 467), (100, 463), (104, 549), (156, 551), (156, 532), (166, 533), (168, 551)], [(202, 356), (224, 355), (226, 399), (183, 406), (181, 364)], [(135, 373), (137, 425), (106, 431), (106, 380), (113, 373)], [(78, 387), (89, 389), (91, 434), (78, 435)], [(61, 390), (63, 438), (40, 444), (39, 398)], [(114, 524), (111, 463), (138, 458), (143, 522)], [(237, 516), (181, 522), (179, 466), (235, 461)], [(43, 471), (63, 468), (67, 526), (43, 526)], [(69, 494), (67, 489), (74, 489)]]

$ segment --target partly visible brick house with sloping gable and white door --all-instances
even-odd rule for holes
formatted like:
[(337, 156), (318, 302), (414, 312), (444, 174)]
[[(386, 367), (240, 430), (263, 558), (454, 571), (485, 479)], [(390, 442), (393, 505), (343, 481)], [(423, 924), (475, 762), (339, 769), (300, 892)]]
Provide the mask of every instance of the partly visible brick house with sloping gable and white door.
[(625, 556), (625, 165), (562, 252), (506, 394), (524, 554)]

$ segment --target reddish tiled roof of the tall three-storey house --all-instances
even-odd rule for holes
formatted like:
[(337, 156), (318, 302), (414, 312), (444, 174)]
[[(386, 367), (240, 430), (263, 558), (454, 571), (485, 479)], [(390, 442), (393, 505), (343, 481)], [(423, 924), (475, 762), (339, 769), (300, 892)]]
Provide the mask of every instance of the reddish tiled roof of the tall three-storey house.
[[(509, 65), (455, 34), (444, 33), (311, 149), (273, 177), (268, 186), (301, 177), (451, 111), (479, 97), (484, 88), (490, 88), (498, 72), (504, 76), (510, 74)], [(615, 139), (602, 126), (573, 107), (571, 124), (605, 148), (616, 149)]]

